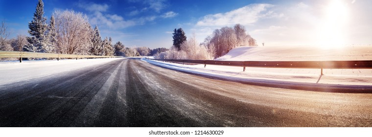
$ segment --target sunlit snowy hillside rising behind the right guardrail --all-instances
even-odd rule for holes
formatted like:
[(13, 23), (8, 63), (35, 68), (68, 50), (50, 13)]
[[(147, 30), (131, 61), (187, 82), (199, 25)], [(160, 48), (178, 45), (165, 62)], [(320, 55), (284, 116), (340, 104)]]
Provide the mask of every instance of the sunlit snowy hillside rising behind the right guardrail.
[(372, 60), (372, 46), (242, 46), (216, 60), (229, 61), (336, 61)]

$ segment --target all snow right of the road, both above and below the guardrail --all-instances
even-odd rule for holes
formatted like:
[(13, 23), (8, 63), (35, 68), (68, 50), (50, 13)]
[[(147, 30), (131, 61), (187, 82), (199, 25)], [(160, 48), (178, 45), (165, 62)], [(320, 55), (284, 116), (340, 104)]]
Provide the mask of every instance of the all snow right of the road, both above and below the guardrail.
[[(332, 84), (372, 86), (372, 69), (246, 68), (207, 65), (182, 65), (142, 59), (165, 68), (251, 82), (287, 84)], [(334, 48), (309, 46), (237, 47), (217, 58), (224, 61), (336, 61), (372, 60), (372, 46)]]

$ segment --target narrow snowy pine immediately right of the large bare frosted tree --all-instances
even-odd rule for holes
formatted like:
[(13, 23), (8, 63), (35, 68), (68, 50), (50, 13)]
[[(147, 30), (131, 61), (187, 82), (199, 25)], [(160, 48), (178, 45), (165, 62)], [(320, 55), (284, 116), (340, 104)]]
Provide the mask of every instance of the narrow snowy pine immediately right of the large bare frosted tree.
[(102, 55), (102, 50), (102, 38), (99, 35), (98, 26), (96, 25), (93, 30), (92, 47), (90, 52), (92, 55)]

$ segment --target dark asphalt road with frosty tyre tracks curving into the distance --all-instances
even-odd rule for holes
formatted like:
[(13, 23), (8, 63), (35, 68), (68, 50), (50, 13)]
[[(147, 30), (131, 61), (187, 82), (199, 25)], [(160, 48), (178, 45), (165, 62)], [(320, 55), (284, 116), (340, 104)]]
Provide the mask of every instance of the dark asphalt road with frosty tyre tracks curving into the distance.
[(371, 93), (269, 88), (136, 59), (0, 85), (0, 127), (372, 127)]

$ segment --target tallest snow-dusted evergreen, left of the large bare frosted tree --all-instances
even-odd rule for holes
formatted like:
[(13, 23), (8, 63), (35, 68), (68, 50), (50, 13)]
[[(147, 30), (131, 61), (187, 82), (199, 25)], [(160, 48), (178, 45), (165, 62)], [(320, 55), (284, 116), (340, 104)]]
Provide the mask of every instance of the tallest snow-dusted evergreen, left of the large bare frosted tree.
[(47, 39), (45, 36), (47, 24), (44, 15), (44, 3), (43, 0), (39, 0), (34, 17), (31, 22), (28, 23), (28, 33), (31, 37), (27, 37), (27, 41), (30, 43), (25, 46), (26, 51), (31, 52), (46, 52)]

